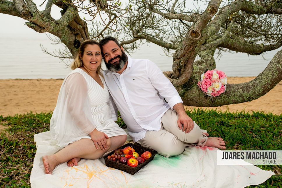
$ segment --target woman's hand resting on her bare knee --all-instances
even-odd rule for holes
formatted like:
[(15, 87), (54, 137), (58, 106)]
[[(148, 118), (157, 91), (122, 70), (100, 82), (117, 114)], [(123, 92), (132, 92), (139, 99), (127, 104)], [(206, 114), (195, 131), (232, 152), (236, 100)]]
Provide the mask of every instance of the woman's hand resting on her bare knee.
[(108, 145), (106, 139), (109, 139), (109, 137), (105, 133), (94, 129), (93, 131), (91, 131), (91, 133), (89, 133), (89, 136), (94, 142), (94, 145), (97, 150), (99, 150), (99, 147), (101, 148), (101, 150), (107, 149)]

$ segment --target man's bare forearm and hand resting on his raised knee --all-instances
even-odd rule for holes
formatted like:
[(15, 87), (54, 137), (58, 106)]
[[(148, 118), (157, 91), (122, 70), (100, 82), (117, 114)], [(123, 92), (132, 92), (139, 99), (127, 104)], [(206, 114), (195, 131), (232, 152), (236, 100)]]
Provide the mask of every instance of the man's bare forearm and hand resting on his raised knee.
[(190, 131), (192, 131), (192, 129), (194, 128), (194, 122), (191, 117), (186, 114), (182, 103), (177, 103), (173, 106), (173, 109), (178, 114), (177, 125), (179, 129), (182, 129), (182, 131), (185, 131), (185, 133), (190, 133)]

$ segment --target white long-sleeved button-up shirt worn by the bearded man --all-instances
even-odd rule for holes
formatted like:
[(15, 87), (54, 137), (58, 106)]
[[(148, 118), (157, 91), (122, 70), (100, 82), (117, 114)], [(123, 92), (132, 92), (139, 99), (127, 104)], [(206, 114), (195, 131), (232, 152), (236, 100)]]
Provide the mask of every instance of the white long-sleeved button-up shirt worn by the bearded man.
[(105, 70), (104, 77), (112, 96), (109, 102), (112, 119), (117, 120), (118, 109), (133, 142), (144, 138), (147, 130), (160, 130), (163, 114), (175, 104), (183, 103), (172, 83), (148, 59), (128, 56), (123, 73)]

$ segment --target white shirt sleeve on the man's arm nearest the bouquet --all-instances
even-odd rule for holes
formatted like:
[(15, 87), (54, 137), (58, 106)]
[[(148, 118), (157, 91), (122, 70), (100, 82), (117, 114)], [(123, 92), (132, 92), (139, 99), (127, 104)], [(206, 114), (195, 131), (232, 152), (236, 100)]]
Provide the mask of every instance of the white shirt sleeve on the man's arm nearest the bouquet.
[(165, 98), (171, 109), (173, 109), (173, 106), (175, 106), (177, 103), (183, 103), (181, 97), (170, 80), (168, 80), (161, 69), (150, 60), (147, 60), (147, 73), (152, 85), (159, 92), (159, 94)]

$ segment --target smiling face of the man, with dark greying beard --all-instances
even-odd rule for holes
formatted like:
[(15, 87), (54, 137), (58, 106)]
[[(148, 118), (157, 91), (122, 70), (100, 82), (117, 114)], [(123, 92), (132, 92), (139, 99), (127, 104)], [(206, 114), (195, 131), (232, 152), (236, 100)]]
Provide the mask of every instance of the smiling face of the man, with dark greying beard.
[(123, 51), (123, 48), (114, 41), (109, 41), (102, 46), (104, 61), (108, 70), (112, 72), (120, 71), (126, 64), (128, 58)]

